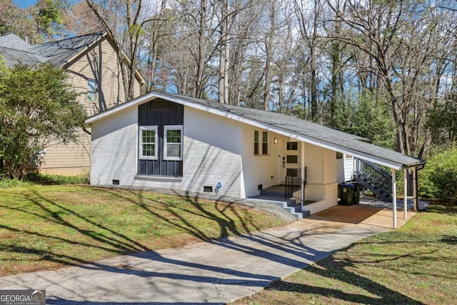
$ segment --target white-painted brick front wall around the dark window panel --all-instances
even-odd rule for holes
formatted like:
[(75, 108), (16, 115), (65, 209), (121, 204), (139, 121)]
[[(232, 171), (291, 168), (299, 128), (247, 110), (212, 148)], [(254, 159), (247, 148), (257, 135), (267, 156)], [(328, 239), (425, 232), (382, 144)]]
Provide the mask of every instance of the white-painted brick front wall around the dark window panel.
[[(174, 189), (203, 193), (212, 186), (218, 196), (241, 196), (241, 126), (231, 119), (184, 107), (183, 176), (137, 172), (138, 108), (94, 123), (91, 185), (141, 189)], [(111, 149), (116, 147), (116, 149)], [(216, 185), (221, 183), (221, 189)]]

